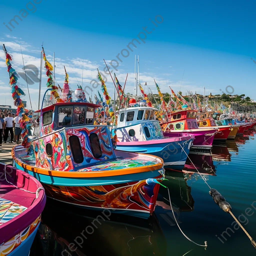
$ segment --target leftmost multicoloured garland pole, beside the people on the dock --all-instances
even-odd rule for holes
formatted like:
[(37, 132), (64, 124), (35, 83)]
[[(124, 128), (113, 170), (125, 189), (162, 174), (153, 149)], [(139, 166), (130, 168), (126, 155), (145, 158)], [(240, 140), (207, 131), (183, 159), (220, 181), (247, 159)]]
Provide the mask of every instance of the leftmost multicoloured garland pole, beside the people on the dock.
[(28, 154), (31, 155), (31, 154), (33, 154), (34, 151), (30, 147), (31, 140), (30, 140), (29, 136), (31, 136), (31, 130), (30, 130), (30, 127), (26, 123), (27, 121), (29, 121), (29, 119), (28, 119), (27, 115), (25, 114), (25, 112), (27, 112), (27, 110), (24, 108), (22, 100), (20, 99), (20, 96), (25, 95), (25, 94), (17, 85), (19, 75), (17, 74), (15, 69), (12, 68), (12, 65), (10, 63), (12, 58), (8, 54), (4, 44), (3, 44), (3, 50), (4, 50), (4, 54), (6, 56), (6, 66), (7, 66), (7, 71), (9, 73), (9, 78), (10, 78), (9, 85), (11, 88), (12, 97), (14, 99), (14, 106), (17, 107), (16, 113), (20, 117), (19, 124), (20, 124), (20, 128), (21, 128), (21, 135), (23, 137), (22, 146), (24, 146), (27, 149)]

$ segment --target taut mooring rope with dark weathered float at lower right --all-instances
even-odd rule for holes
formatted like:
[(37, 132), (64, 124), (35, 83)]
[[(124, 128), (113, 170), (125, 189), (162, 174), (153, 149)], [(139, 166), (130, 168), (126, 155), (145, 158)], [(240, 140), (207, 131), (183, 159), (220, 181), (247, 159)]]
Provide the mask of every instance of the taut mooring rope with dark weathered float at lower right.
[[(179, 144), (179, 143), (178, 143)], [(180, 145), (180, 144), (179, 144)], [(181, 146), (181, 145), (180, 145)], [(181, 146), (182, 147), (182, 146)], [(187, 155), (188, 159), (191, 161), (191, 159), (189, 158), (187, 152), (184, 150), (185, 154)], [(194, 163), (191, 161), (191, 163), (194, 165)], [(196, 168), (196, 166), (194, 165), (194, 167)], [(211, 188), (209, 186), (209, 184), (206, 182), (206, 180), (203, 178), (203, 176), (200, 174), (200, 172), (198, 171), (198, 169), (196, 168), (197, 172), (199, 173), (199, 175), (202, 177), (202, 179), (204, 180), (204, 182), (207, 184), (207, 186), (210, 188), (209, 194), (212, 196), (213, 200), (215, 201), (215, 203), (225, 212), (229, 213), (234, 220), (237, 222), (237, 224), (241, 227), (241, 229), (244, 231), (244, 233), (246, 233), (246, 235), (248, 236), (248, 238), (251, 240), (252, 245), (256, 248), (256, 243), (255, 241), (252, 239), (252, 237), (249, 235), (249, 233), (244, 229), (244, 227), (241, 225), (241, 223), (238, 221), (238, 219), (233, 215), (233, 213), (231, 212), (232, 208), (231, 205), (226, 201), (226, 199), (214, 188)], [(169, 191), (169, 189), (168, 189)], [(172, 206), (171, 206), (172, 207)], [(174, 217), (175, 218), (175, 217)], [(175, 219), (176, 220), (176, 219)]]

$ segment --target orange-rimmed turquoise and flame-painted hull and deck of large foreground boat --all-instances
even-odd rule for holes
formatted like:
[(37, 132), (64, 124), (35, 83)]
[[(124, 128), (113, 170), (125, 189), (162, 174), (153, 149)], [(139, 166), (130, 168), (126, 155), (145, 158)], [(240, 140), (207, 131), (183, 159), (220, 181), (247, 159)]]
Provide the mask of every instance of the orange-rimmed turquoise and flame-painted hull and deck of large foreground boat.
[(154, 211), (160, 185), (153, 179), (164, 176), (161, 158), (115, 150), (114, 161), (63, 172), (34, 167), (17, 155), (22, 151), (16, 147), (15, 166), (40, 180), (52, 199), (106, 215), (114, 211), (148, 218)]

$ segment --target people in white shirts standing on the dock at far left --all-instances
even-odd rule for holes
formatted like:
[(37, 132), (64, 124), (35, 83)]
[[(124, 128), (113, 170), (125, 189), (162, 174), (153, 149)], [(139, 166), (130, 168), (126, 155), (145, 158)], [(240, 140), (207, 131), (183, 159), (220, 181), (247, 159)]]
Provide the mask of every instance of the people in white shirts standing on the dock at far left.
[[(32, 110), (27, 110), (26, 115), (33, 116)], [(0, 146), (2, 143), (20, 143), (20, 117), (10, 109), (0, 109)], [(30, 119), (31, 120), (31, 119)], [(9, 139), (8, 139), (9, 138)]]

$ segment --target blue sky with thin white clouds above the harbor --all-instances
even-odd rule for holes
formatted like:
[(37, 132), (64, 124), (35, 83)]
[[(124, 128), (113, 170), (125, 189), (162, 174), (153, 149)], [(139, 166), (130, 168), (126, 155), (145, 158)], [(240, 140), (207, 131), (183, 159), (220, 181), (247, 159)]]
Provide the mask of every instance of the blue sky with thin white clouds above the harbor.
[[(25, 65), (39, 68), (44, 41), (45, 53), (51, 63), (55, 52), (55, 76), (60, 85), (64, 81), (65, 65), (72, 89), (77, 87), (76, 78), (81, 84), (82, 72), (83, 87), (91, 87), (91, 77), (96, 78), (97, 68), (103, 72), (103, 58), (108, 62), (116, 59), (133, 38), (138, 39), (137, 35), (144, 32), (147, 36), (145, 44), (138, 39), (140, 44), (135, 43), (137, 48), (133, 47), (127, 58), (122, 57), (123, 62), (115, 72), (121, 84), (129, 73), (127, 92), (133, 92), (136, 54), (140, 56), (140, 82), (142, 85), (147, 82), (153, 92), (154, 78), (163, 93), (168, 91), (167, 84), (178, 91), (185, 70), (181, 86), (183, 94), (186, 90), (200, 93), (204, 86), (206, 94), (219, 94), (219, 89), (225, 92), (227, 86), (232, 86), (234, 94), (244, 93), (256, 100), (256, 65), (251, 60), (256, 60), (253, 15), (256, 4), (253, 1), (31, 2), (34, 6), (28, 4), (28, 0), (0, 4), (0, 41), (13, 55), (12, 64), (18, 72), (23, 67), (19, 44), (22, 45)], [(21, 9), (28, 13), (25, 18), (19, 13)], [(19, 15), (22, 21), (16, 18), (19, 25), (12, 22), (15, 28), (9, 26), (10, 31), (3, 23), (9, 25), (15, 15)], [(163, 17), (162, 23), (156, 23), (156, 15)], [(159, 16), (158, 20), (161, 20)], [(151, 34), (143, 30), (145, 26), (152, 31)], [(143, 38), (143, 34), (140, 35)], [(5, 104), (6, 100), (6, 104), (13, 105), (4, 62), (0, 50), (0, 95), (3, 102), (0, 104)], [(110, 76), (106, 77), (106, 86), (112, 96), (113, 82)], [(19, 82), (26, 84), (22, 78)], [(42, 93), (45, 84), (44, 75)], [(29, 85), (33, 108), (38, 104), (38, 86), (39, 83)], [(145, 90), (148, 93), (148, 89)], [(25, 100), (28, 100), (27, 96)]]

